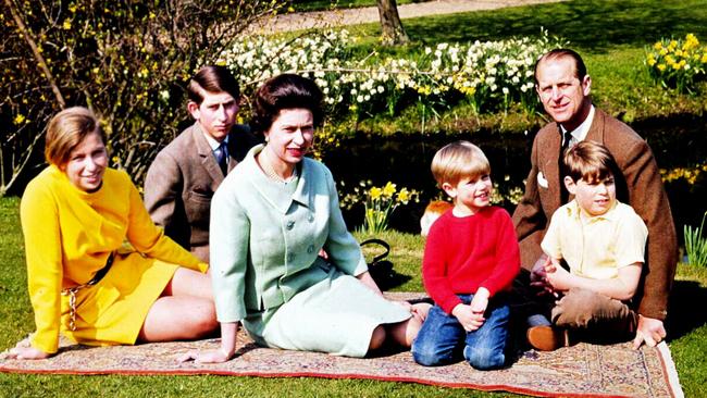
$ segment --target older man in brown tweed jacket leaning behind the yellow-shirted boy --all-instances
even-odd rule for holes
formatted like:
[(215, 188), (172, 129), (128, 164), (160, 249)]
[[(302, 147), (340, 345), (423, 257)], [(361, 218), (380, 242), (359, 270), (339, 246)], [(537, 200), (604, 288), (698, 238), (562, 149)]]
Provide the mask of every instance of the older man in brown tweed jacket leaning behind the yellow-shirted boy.
[(525, 194), (513, 212), (521, 261), (530, 271), (530, 275), (523, 275), (525, 283), (530, 276), (534, 286), (547, 286), (543, 277), (548, 260), (539, 242), (553, 213), (569, 196), (561, 183), (561, 148), (583, 139), (604, 144), (622, 173), (616, 175), (618, 199), (631, 204), (648, 227), (646, 263), (634, 298), (640, 316), (633, 343), (635, 348), (643, 343), (655, 346), (666, 336), (663, 321), (678, 262), (678, 242), (653, 152), (631, 127), (594, 108), (590, 98), (592, 80), (576, 52), (558, 49), (544, 54), (535, 65), (535, 84), (554, 122), (543, 127), (533, 141)]

